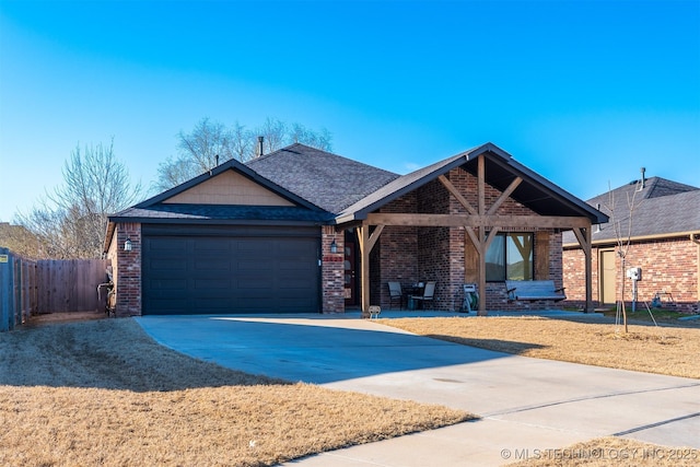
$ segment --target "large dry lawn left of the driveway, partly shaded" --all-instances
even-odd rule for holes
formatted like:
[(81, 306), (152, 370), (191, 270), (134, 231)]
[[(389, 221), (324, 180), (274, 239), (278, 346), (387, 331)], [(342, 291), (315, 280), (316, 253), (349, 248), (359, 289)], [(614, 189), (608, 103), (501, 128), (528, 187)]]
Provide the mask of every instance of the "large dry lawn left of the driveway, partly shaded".
[(226, 370), (129, 319), (0, 334), (0, 465), (272, 465), (469, 418)]

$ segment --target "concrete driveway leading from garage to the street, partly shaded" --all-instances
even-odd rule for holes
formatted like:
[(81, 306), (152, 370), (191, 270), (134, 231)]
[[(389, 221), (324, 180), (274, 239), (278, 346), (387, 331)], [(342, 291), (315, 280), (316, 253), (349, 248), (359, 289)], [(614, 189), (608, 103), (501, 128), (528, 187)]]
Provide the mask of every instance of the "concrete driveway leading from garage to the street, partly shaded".
[[(136, 320), (160, 343), (231, 369), (481, 416), (289, 465), (503, 465), (526, 455), (553, 460), (561, 455), (553, 450), (606, 435), (690, 446), (690, 455), (700, 462), (698, 380), (511, 355), (415, 336), (357, 316)], [(650, 455), (579, 454), (608, 456), (611, 463)]]

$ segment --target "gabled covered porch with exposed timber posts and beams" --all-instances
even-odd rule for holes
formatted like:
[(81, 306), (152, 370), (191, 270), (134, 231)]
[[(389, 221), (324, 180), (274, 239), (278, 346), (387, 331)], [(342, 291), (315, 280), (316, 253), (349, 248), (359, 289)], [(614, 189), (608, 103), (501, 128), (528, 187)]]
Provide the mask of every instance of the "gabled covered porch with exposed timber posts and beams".
[(572, 230), (586, 257), (585, 311), (593, 311), (591, 229), (604, 219), (486, 144), (402, 176), (349, 207), (337, 218), (334, 241), (357, 242), (350, 292), (359, 294), (363, 311), (389, 305), (389, 281), (435, 281), (431, 308), (459, 311), (463, 285), (476, 283), (478, 314), (485, 315), (523, 306), (509, 300), (509, 278), (561, 287), (561, 232)]

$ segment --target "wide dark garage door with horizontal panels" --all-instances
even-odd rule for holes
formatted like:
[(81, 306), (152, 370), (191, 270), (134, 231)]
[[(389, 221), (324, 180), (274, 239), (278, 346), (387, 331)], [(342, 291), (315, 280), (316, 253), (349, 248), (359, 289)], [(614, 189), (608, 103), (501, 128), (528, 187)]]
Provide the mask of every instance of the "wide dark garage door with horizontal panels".
[(143, 314), (316, 313), (317, 227), (142, 226)]

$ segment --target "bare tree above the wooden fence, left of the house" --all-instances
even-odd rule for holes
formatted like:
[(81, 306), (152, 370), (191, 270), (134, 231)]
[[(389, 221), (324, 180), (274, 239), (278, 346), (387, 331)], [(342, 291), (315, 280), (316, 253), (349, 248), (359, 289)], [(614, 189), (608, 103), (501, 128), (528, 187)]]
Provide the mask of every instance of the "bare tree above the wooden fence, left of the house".
[(109, 145), (75, 147), (63, 165), (63, 184), (18, 221), (35, 235), (47, 258), (98, 258), (107, 217), (136, 202), (141, 186), (132, 186), (126, 166)]

